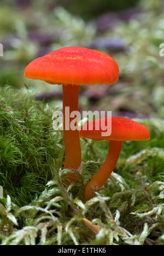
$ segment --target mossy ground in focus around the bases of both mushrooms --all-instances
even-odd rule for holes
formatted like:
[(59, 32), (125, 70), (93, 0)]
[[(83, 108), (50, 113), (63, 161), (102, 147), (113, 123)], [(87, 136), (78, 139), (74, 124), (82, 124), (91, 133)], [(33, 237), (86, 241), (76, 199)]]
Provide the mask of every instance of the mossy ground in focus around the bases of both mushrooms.
[[(164, 245), (164, 122), (137, 120), (151, 139), (124, 142), (108, 182), (83, 203), (108, 142), (81, 139), (78, 181), (66, 189), (62, 132), (48, 104), (29, 89), (0, 92), (0, 242), (2, 245)], [(72, 171), (73, 172), (73, 171)], [(86, 228), (97, 224), (97, 235)]]

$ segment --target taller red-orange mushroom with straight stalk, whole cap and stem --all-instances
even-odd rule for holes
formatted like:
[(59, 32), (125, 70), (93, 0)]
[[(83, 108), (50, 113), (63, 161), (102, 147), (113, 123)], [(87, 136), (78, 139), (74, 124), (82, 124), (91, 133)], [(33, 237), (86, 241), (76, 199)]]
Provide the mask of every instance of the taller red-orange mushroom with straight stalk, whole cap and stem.
[[(79, 130), (65, 129), (73, 118), (65, 116), (78, 111), (80, 85), (113, 84), (119, 78), (117, 63), (107, 54), (81, 47), (66, 47), (33, 60), (25, 69), (25, 77), (63, 85), (64, 168), (78, 169), (81, 164)], [(75, 181), (75, 176), (71, 175)]]

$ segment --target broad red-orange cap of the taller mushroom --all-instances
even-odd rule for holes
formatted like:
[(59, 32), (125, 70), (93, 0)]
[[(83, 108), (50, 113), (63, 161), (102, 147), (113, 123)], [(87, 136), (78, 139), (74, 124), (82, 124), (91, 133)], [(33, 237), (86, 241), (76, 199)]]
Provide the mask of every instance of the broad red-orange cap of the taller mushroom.
[(119, 67), (109, 55), (82, 47), (66, 47), (33, 60), (25, 77), (50, 84), (114, 84)]

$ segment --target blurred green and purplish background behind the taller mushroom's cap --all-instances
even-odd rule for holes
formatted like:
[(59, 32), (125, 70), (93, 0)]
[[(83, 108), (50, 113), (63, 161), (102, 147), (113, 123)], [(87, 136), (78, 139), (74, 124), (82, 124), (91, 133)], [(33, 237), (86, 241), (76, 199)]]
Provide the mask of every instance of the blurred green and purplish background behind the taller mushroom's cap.
[(113, 57), (115, 85), (81, 86), (79, 108), (112, 110), (129, 118), (164, 117), (163, 0), (1, 0), (0, 86), (34, 91), (37, 100), (62, 107), (62, 88), (24, 78), (36, 57), (65, 46), (84, 46)]

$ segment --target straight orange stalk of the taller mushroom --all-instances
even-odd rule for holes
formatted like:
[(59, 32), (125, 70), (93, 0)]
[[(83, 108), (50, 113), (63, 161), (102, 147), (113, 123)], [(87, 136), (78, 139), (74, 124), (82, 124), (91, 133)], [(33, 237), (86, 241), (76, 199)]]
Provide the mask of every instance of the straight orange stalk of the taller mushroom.
[[(81, 164), (81, 148), (78, 130), (78, 117), (77, 128), (71, 129), (71, 122), (75, 117), (70, 118), (73, 111), (78, 111), (79, 103), (79, 85), (63, 85), (63, 136), (65, 141), (65, 165), (64, 168), (78, 169)], [(66, 113), (66, 107), (69, 107), (69, 113)], [(67, 178), (71, 182), (76, 181), (74, 174), (67, 174)]]

